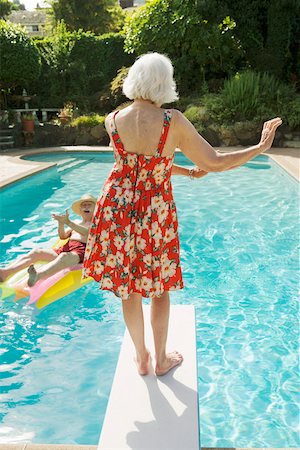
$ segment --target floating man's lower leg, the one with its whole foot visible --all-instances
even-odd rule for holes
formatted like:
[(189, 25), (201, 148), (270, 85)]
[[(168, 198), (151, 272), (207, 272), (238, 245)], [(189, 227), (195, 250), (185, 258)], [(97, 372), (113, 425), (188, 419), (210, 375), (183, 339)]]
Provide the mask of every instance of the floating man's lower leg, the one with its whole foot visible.
[(34, 265), (30, 265), (28, 268), (29, 278), (28, 286), (34, 286), (34, 284), (41, 280), (42, 278), (50, 277), (51, 275), (59, 272), (66, 267), (74, 266), (78, 264), (80, 257), (75, 252), (63, 252), (60, 255), (56, 255), (55, 260), (51, 261), (49, 264), (45, 264), (39, 267), (37, 270)]

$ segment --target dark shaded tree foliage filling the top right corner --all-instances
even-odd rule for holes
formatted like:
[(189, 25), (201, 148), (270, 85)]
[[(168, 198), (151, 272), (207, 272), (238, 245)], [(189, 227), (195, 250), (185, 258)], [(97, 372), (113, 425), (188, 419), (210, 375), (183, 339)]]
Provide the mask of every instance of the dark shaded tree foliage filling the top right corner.
[(222, 7), (236, 21), (235, 34), (250, 67), (281, 79), (297, 72), (299, 77), (298, 0), (224, 0)]

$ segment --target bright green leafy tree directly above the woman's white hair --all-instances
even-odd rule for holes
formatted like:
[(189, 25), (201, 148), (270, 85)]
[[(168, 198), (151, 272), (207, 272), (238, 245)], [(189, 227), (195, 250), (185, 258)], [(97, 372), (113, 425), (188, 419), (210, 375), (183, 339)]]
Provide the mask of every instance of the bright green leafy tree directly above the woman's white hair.
[(207, 78), (234, 71), (241, 57), (234, 28), (229, 16), (207, 20), (197, 2), (152, 0), (127, 18), (125, 49), (169, 55), (180, 89), (198, 89)]

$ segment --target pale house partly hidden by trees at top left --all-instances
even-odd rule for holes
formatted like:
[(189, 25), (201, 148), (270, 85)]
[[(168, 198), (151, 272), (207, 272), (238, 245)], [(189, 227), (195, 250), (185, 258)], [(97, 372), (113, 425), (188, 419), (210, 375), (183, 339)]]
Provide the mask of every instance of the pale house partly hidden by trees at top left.
[(13, 11), (8, 20), (22, 25), (29, 36), (46, 36), (46, 11), (37, 8), (34, 11)]

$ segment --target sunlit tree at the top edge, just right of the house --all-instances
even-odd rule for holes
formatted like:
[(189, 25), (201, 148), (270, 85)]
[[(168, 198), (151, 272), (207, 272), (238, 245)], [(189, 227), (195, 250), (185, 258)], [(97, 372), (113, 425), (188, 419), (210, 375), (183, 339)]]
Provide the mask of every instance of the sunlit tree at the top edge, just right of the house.
[(53, 0), (52, 10), (55, 21), (64, 20), (71, 31), (104, 34), (123, 25), (124, 13), (115, 0)]

